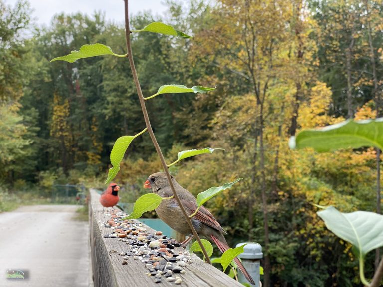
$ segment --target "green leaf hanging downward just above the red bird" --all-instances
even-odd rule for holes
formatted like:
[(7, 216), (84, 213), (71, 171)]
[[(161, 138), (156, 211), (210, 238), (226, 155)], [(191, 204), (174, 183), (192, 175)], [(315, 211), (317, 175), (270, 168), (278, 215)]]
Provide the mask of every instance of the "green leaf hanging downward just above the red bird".
[(141, 131), (137, 135), (123, 136), (117, 139), (117, 141), (113, 145), (112, 152), (110, 153), (110, 162), (112, 163), (113, 167), (109, 168), (108, 178), (106, 179), (105, 184), (108, 184), (109, 182), (111, 182), (113, 178), (115, 178), (115, 176), (119, 172), (121, 160), (124, 158), (124, 154), (129, 144), (136, 137), (144, 133), (146, 130), (147, 128), (145, 128), (143, 131)]

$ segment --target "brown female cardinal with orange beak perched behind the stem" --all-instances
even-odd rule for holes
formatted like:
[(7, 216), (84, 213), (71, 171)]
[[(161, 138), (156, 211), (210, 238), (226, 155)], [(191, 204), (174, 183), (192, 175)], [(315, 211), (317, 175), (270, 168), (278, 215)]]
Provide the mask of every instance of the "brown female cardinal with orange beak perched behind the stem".
[[(174, 188), (177, 195), (180, 197), (181, 203), (184, 206), (186, 212), (191, 215), (197, 209), (197, 201), (188, 190), (183, 188), (171, 175)], [(144, 188), (151, 188), (153, 193), (160, 195), (161, 197), (171, 197), (173, 195), (172, 190), (168, 182), (168, 178), (165, 172), (153, 173), (148, 177), (148, 180), (144, 183)], [(176, 199), (163, 200), (161, 204), (156, 208), (158, 216), (174, 230), (190, 236), (192, 230), (190, 229), (188, 222), (186, 221), (184, 214), (182, 213)], [(223, 236), (226, 233), (214, 216), (204, 206), (201, 206), (195, 216), (192, 217), (192, 224), (199, 235), (211, 239), (218, 246), (219, 250), (223, 253), (229, 246)], [(193, 236), (189, 237), (184, 244), (187, 244)], [(250, 274), (244, 268), (242, 263), (236, 257), (234, 258), (238, 268), (242, 271), (246, 279), (255, 284)]]

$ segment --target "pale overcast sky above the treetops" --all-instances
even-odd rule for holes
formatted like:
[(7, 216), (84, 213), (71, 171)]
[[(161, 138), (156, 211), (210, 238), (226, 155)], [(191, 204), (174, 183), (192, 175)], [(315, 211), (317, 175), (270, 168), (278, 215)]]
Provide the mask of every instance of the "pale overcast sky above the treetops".
[[(5, 0), (5, 4), (14, 6), (17, 0)], [(65, 12), (82, 12), (92, 15), (94, 11), (104, 11), (106, 20), (116, 23), (124, 21), (124, 2), (122, 0), (28, 0), (34, 9), (32, 17), (38, 24), (48, 25), (53, 15)], [(166, 7), (162, 0), (130, 0), (129, 14), (140, 11), (152, 11), (153, 15), (162, 15)]]

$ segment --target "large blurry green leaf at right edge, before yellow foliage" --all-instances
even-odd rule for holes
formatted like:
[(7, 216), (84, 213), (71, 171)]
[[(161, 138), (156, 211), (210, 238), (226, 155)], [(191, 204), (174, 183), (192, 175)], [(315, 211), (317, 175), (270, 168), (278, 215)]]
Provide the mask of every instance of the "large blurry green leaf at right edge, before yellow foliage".
[(306, 130), (289, 140), (291, 149), (312, 147), (318, 152), (339, 148), (375, 146), (383, 149), (383, 118), (347, 120), (316, 130)]

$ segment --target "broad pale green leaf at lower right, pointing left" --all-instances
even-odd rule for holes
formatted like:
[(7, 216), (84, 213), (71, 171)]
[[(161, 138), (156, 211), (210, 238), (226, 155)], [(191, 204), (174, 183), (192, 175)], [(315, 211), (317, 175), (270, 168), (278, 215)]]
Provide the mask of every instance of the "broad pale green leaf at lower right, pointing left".
[(327, 228), (354, 245), (362, 258), (383, 246), (383, 215), (368, 211), (343, 213), (333, 206), (317, 213)]

